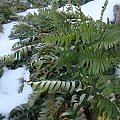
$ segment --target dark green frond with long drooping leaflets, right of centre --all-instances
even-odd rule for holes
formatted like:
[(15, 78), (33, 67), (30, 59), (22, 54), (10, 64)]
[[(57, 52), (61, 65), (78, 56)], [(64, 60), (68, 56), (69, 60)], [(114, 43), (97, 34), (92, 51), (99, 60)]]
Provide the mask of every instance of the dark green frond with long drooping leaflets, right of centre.
[(89, 74), (99, 74), (113, 68), (116, 59), (101, 50), (86, 49), (79, 53), (80, 66), (85, 65)]

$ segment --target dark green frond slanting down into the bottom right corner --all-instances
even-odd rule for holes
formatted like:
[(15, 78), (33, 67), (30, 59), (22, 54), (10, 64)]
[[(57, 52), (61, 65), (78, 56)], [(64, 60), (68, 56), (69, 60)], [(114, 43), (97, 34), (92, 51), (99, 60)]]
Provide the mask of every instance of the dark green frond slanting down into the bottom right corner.
[(104, 119), (107, 119), (109, 116), (111, 120), (115, 120), (120, 115), (120, 110), (116, 104), (101, 94), (96, 94), (92, 105), (99, 115), (104, 116)]

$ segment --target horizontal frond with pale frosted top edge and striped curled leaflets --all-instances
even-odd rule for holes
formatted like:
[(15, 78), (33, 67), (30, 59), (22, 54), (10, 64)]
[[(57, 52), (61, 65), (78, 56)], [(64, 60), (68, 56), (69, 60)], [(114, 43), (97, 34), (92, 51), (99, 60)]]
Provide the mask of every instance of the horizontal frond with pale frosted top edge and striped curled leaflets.
[[(48, 91), (48, 94), (55, 93), (57, 91), (73, 92), (78, 87), (77, 81), (40, 81), (40, 82), (29, 82), (34, 87), (34, 90)], [(79, 83), (80, 84), (80, 83)]]

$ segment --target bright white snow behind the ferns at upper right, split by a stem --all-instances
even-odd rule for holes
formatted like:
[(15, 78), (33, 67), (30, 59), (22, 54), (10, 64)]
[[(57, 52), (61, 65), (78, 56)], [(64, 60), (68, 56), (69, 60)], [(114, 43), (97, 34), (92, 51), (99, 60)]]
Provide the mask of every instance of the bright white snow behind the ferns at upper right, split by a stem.
[[(101, 16), (102, 6), (104, 5), (105, 0), (94, 0), (90, 1), (85, 5), (81, 6), (82, 12), (86, 16), (91, 16), (94, 20), (99, 20)], [(107, 22), (107, 17), (110, 21), (114, 20), (113, 7), (116, 4), (120, 4), (120, 0), (108, 0), (108, 5), (103, 15), (103, 21)], [(67, 12), (68, 5), (59, 8), (59, 11)], [(72, 5), (72, 11), (77, 11), (76, 7)], [(71, 12), (71, 11), (70, 11)]]

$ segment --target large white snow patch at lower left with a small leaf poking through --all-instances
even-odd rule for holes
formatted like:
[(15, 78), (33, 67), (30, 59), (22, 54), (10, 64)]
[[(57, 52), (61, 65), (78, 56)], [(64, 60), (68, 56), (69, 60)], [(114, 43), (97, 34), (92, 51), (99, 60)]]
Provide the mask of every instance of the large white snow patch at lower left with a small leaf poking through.
[(3, 76), (0, 79), (0, 113), (3, 115), (9, 114), (15, 106), (28, 101), (32, 88), (25, 83), (23, 91), (18, 93), (20, 86), (18, 79), (21, 77), (24, 79), (27, 77), (29, 80), (29, 71), (25, 67), (15, 70), (4, 68)]

